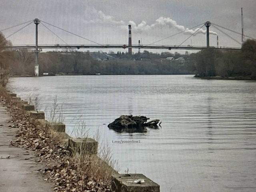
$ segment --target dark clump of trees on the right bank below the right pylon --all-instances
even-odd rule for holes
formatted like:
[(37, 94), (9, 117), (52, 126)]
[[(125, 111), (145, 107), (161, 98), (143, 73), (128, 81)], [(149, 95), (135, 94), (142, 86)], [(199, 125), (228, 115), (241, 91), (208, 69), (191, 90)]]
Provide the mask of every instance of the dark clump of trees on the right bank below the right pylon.
[(239, 51), (206, 49), (190, 55), (189, 65), (199, 77), (256, 78), (256, 40), (248, 39)]

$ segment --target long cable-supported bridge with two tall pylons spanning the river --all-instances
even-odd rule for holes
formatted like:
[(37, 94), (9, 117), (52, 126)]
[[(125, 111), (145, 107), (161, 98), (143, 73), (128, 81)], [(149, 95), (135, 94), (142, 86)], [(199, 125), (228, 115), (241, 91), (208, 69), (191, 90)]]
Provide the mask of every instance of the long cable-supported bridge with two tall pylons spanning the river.
[[(242, 43), (239, 42), (238, 40), (236, 40), (235, 38), (232, 38), (230, 35), (228, 35), (226, 32), (224, 32), (224, 30), (227, 30), (229, 32), (233, 32), (235, 34), (239, 34), (242, 36), (242, 39), (244, 37), (247, 37), (247, 38), (252, 38), (252, 37), (249, 37), (249, 36), (245, 36), (244, 34), (241, 34), (239, 32), (236, 32), (234, 30), (230, 30), (228, 28), (225, 28), (225, 27), (222, 27), (218, 24), (214, 24), (214, 23), (211, 23), (209, 21), (205, 22), (205, 23), (202, 23), (202, 24), (199, 24), (197, 26), (194, 26), (192, 28), (187, 28), (186, 30), (183, 30), (181, 32), (178, 32), (176, 34), (172, 34), (168, 37), (165, 37), (165, 38), (162, 38), (160, 40), (157, 40), (155, 42), (152, 42), (150, 44), (146, 44), (146, 45), (141, 45), (140, 44), (140, 41), (139, 41), (139, 44), (137, 45), (132, 45), (132, 34), (131, 34), (131, 25), (129, 25), (129, 33), (128, 33), (128, 45), (127, 44), (100, 44), (100, 43), (97, 43), (97, 42), (94, 42), (88, 38), (84, 38), (80, 35), (77, 35), (77, 34), (74, 34), (73, 32), (70, 32), (68, 30), (65, 30), (65, 29), (62, 29), (58, 26), (54, 26), (53, 24), (50, 24), (48, 22), (44, 22), (42, 20), (39, 20), (39, 19), (34, 19), (34, 20), (30, 20), (30, 21), (27, 21), (27, 22), (24, 22), (24, 23), (21, 23), (21, 24), (17, 24), (15, 26), (11, 26), (11, 27), (8, 27), (8, 28), (5, 28), (5, 29), (2, 29), (0, 30), (0, 32), (4, 32), (6, 30), (10, 30), (12, 28), (16, 28), (18, 26), (22, 26), (21, 28), (19, 28), (18, 30), (16, 30), (15, 32), (13, 32), (12, 34), (10, 34), (9, 36), (6, 37), (6, 39), (10, 38), (11, 36), (13, 36), (14, 34), (20, 32), (22, 29), (26, 28), (27, 26), (29, 26), (30, 24), (34, 23), (36, 25), (36, 41), (35, 41), (35, 44), (34, 45), (12, 45), (12, 46), (7, 46), (6, 49), (8, 50), (19, 50), (19, 49), (35, 49), (35, 56), (36, 56), (36, 59), (35, 59), (35, 75), (36, 76), (39, 76), (39, 65), (38, 65), (38, 53), (40, 51), (42, 51), (43, 49), (104, 49), (104, 48), (110, 48), (110, 49), (116, 49), (116, 48), (123, 48), (123, 49), (126, 49), (128, 48), (128, 53), (129, 54), (132, 54), (132, 49), (162, 49), (162, 50), (204, 50), (204, 49), (207, 49), (207, 48), (213, 48), (213, 49), (218, 49), (218, 50), (231, 50), (231, 51), (236, 51), (236, 50), (240, 50), (241, 49), (241, 45)], [(52, 34), (54, 34), (57, 38), (59, 38), (64, 44), (52, 44), (52, 45), (49, 45), (49, 44), (41, 44), (41, 45), (38, 45), (38, 25), (39, 24), (42, 24), (42, 26), (44, 26), (45, 28), (47, 28)], [(77, 36), (79, 38), (82, 38), (84, 40), (87, 40), (88, 42), (90, 43), (93, 43), (93, 44), (67, 44), (62, 38), (60, 38), (56, 33), (54, 33), (52, 30), (50, 30), (50, 28), (48, 28), (48, 26), (51, 26), (51, 27), (54, 27), (54, 28), (57, 28), (59, 30), (62, 30), (66, 33), (69, 33), (69, 34), (72, 34), (74, 36)], [(200, 28), (198, 28), (200, 26)], [(192, 36), (194, 36), (199, 30), (201, 30), (203, 27), (206, 27), (206, 46), (191, 46), (191, 45), (187, 45), (187, 46), (182, 46), (182, 44), (184, 44), (184, 42), (186, 42), (189, 38), (191, 38)], [(222, 32), (222, 34), (224, 34), (225, 36), (227, 36), (228, 38), (230, 38), (231, 40), (235, 41), (236, 43), (240, 44), (240, 47), (222, 47), (222, 46), (218, 46), (218, 42), (217, 42), (217, 47), (215, 46), (210, 46), (210, 32), (209, 32), (209, 27), (212, 26), (214, 27), (216, 30)], [(168, 38), (171, 38), (171, 37), (174, 37), (178, 34), (182, 34), (182, 33), (186, 33), (188, 30), (192, 30), (196, 28), (196, 30), (194, 31), (194, 33), (192, 33), (188, 38), (186, 38), (182, 43), (180, 43), (179, 45), (156, 45), (156, 43), (158, 42), (161, 42), (163, 40), (166, 40)], [(218, 39), (218, 37), (217, 37)]]

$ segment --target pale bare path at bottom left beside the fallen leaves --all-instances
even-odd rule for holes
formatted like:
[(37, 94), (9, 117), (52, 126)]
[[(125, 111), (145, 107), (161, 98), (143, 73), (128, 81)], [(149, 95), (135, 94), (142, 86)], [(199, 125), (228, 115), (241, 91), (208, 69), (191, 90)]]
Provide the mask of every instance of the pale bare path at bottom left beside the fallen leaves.
[(52, 184), (44, 181), (44, 164), (36, 163), (32, 151), (10, 146), (18, 128), (0, 103), (0, 192), (51, 192)]

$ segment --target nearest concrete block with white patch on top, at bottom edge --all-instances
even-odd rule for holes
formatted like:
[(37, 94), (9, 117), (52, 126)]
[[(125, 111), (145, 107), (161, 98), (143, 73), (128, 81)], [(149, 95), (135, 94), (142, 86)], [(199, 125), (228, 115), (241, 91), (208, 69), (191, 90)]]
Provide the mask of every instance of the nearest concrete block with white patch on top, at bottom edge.
[(160, 192), (160, 186), (143, 174), (113, 174), (111, 190), (116, 192)]

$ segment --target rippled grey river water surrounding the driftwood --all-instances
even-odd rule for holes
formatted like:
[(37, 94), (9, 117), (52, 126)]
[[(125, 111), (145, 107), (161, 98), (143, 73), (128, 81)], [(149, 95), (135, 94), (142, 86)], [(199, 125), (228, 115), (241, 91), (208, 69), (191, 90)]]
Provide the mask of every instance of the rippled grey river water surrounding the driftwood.
[[(84, 122), (112, 148), (119, 172), (142, 173), (162, 192), (256, 191), (256, 82), (192, 75), (11, 78), (8, 89), (50, 118), (54, 98), (66, 132)], [(162, 128), (117, 133), (122, 114)]]

